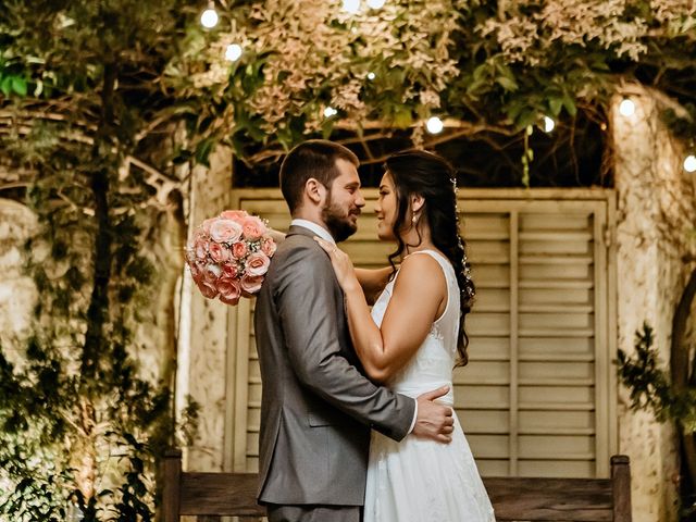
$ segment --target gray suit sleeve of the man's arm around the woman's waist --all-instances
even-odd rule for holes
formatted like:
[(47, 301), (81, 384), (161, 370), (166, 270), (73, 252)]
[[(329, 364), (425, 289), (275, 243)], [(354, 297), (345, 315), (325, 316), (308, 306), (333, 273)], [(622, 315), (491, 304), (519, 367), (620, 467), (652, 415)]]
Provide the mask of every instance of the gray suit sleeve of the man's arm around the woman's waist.
[(336, 323), (336, 276), (323, 250), (288, 259), (275, 299), (290, 363), (304, 386), (395, 440), (411, 430), (415, 400), (376, 386), (341, 353)]

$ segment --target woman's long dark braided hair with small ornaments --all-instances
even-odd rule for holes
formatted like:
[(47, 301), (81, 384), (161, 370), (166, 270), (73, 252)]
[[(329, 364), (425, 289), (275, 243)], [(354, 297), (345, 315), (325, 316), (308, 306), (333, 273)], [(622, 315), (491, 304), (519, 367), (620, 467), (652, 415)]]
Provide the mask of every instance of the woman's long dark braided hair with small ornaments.
[(410, 226), (410, 215), (407, 215), (409, 201), (412, 195), (420, 195), (425, 200), (423, 215), (430, 225), (432, 241), (447, 256), (457, 274), (461, 311), (457, 338), (460, 356), (458, 365), (464, 365), (469, 361), (469, 337), (464, 328), (464, 319), (471, 311), (475, 288), (467, 260), (467, 245), (459, 234), (456, 172), (443, 158), (423, 150), (393, 154), (387, 159), (385, 167), (394, 181), (397, 198), (397, 214), (393, 227), (398, 248), (389, 256), (389, 262), (394, 268), (395, 260), (406, 250), (407, 245), (401, 240), (399, 231), (408, 229)]

